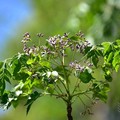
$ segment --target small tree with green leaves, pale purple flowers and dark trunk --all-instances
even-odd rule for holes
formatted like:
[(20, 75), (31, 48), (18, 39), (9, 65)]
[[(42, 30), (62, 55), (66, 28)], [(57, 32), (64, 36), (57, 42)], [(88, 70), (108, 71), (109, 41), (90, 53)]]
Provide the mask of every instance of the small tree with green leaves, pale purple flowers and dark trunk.
[[(23, 52), (0, 62), (0, 100), (4, 109), (25, 100), (27, 112), (34, 101), (45, 95), (61, 99), (67, 106), (67, 118), (73, 120), (72, 104), (86, 96), (95, 103), (104, 102), (110, 90), (112, 71), (120, 67), (120, 40), (91, 45), (82, 32), (74, 36), (64, 33), (55, 35), (41, 44), (38, 33), (37, 45), (27, 32), (23, 36)], [(95, 76), (102, 70), (103, 80)], [(8, 85), (9, 83), (9, 85)], [(82, 114), (92, 114), (89, 107)]]

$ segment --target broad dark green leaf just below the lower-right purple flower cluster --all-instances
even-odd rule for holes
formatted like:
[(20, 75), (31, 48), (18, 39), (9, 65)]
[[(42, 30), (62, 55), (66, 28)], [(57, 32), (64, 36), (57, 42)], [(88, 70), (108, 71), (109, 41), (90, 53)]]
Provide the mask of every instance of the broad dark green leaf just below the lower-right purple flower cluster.
[(80, 78), (80, 80), (83, 82), (83, 83), (88, 83), (90, 82), (92, 79), (94, 79), (92, 77), (92, 75), (88, 72), (88, 70), (86, 69), (85, 71), (79, 73), (78, 77)]

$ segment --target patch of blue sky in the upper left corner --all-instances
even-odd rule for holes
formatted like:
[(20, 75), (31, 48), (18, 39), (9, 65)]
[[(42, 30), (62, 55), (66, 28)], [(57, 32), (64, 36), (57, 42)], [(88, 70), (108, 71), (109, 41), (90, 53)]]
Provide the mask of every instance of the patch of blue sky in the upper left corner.
[(15, 33), (14, 28), (28, 18), (31, 12), (30, 1), (0, 0), (0, 51)]

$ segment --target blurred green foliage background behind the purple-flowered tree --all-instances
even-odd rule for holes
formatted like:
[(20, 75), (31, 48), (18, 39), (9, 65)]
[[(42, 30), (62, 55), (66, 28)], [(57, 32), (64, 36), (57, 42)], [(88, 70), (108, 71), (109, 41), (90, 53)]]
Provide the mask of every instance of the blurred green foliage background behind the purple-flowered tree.
[[(10, 38), (4, 51), (4, 58), (22, 51), (20, 41), (26, 31), (30, 32), (33, 37), (38, 32), (42, 32), (47, 38), (49, 35), (63, 34), (64, 32), (75, 33), (78, 30), (82, 30), (86, 35), (86, 39), (93, 43), (114, 41), (120, 38), (119, 0), (32, 0), (31, 2), (33, 7), (33, 13), (30, 14), (31, 19), (18, 25), (15, 31), (16, 35)], [(37, 40), (36, 37), (33, 39)], [(99, 71), (98, 75), (100, 75)], [(109, 98), (109, 104), (112, 108), (117, 106), (116, 99), (120, 96), (118, 78), (119, 75), (114, 74), (114, 79), (116, 80), (111, 85), (112, 90)], [(57, 107), (54, 108), (54, 106)], [(75, 107), (78, 107), (78, 109), (73, 111), (73, 114), (76, 115), (78, 113), (76, 120), (79, 120), (81, 118), (79, 113), (83, 106), (79, 103)], [(25, 116), (24, 108), (20, 107), (17, 110), (6, 113), (0, 119), (16, 120), (17, 117), (17, 120), (46, 120), (48, 118), (51, 120), (59, 120), (58, 118), (64, 120), (65, 109), (61, 101), (57, 103), (52, 98), (45, 98), (38, 100), (34, 104), (27, 117)], [(82, 117), (82, 119), (86, 120), (87, 118)]]

